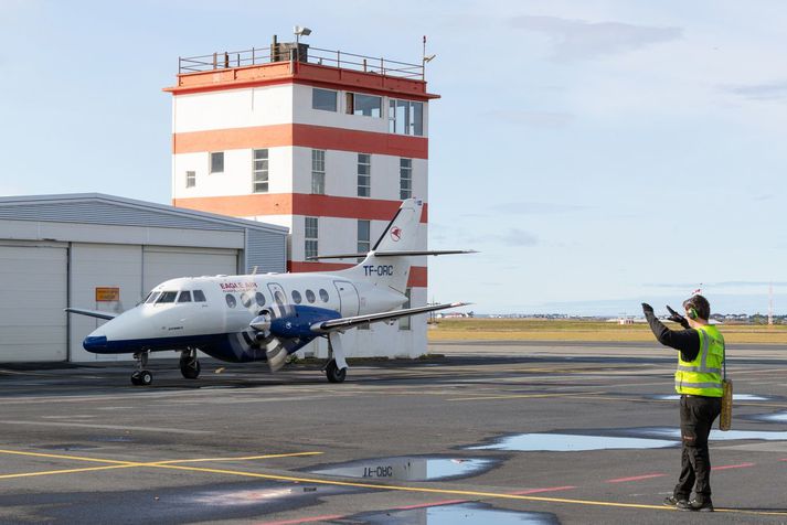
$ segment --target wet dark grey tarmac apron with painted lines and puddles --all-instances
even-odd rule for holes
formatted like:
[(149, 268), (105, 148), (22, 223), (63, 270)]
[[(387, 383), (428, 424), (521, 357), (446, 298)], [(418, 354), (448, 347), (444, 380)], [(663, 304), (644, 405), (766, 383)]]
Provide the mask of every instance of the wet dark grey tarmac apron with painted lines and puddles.
[[(787, 346), (727, 349), (716, 512), (680, 468), (674, 351), (451, 342), (416, 361), (0, 364), (0, 523), (787, 523)], [(174, 354), (173, 354), (174, 355)], [(717, 426), (716, 426), (717, 427)]]

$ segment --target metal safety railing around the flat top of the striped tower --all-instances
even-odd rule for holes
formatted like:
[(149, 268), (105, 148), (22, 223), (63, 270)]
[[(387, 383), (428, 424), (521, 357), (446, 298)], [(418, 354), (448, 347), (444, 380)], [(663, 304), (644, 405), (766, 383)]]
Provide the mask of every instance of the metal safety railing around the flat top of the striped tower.
[[(269, 46), (252, 47), (244, 51), (225, 51), (210, 55), (178, 58), (178, 73), (199, 73), (214, 69), (247, 67), (274, 62), (304, 62), (309, 64), (360, 71), (398, 78), (424, 79), (425, 66), (383, 57), (365, 56), (342, 51), (322, 50), (304, 44), (283, 44), (284, 52), (272, 53)], [(284, 60), (283, 60), (284, 58)]]

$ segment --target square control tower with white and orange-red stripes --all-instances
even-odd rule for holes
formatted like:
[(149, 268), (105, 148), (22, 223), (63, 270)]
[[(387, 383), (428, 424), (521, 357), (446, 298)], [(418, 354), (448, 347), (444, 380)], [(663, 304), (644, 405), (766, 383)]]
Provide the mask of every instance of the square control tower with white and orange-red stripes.
[[(347, 268), (410, 196), (427, 201), (424, 63), (302, 43), (180, 58), (172, 94), (172, 204), (290, 228), (289, 271)], [(426, 210), (422, 221), (426, 223)], [(426, 249), (426, 227), (421, 245)], [(411, 304), (426, 303), (426, 258)], [(426, 352), (426, 317), (348, 333), (353, 355)], [(312, 345), (322, 354), (322, 346)]]

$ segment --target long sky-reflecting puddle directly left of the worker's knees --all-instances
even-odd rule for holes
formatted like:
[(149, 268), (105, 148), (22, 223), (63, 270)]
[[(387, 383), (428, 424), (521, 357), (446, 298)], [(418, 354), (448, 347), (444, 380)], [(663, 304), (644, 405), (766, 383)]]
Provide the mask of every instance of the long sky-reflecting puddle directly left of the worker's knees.
[(492, 444), (468, 447), (469, 450), (514, 450), (518, 452), (579, 452), (585, 450), (663, 449), (678, 441), (648, 438), (616, 438), (573, 433), (520, 433), (497, 440)]

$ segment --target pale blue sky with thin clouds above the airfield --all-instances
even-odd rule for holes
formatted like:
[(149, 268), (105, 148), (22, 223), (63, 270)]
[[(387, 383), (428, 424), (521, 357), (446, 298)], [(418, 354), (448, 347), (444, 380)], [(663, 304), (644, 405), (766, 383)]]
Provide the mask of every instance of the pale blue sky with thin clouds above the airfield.
[(787, 3), (0, 0), (0, 195), (170, 202), (178, 57), (288, 40), (419, 62), (429, 300), (787, 313)]

